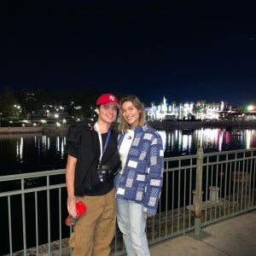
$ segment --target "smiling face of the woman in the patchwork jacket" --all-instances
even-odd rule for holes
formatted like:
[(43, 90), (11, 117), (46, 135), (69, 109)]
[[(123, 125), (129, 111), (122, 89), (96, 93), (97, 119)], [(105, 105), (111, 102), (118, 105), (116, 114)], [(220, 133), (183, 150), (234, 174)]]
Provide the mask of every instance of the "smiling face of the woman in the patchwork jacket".
[(139, 110), (133, 105), (132, 102), (123, 102), (121, 106), (123, 118), (130, 125), (131, 130), (139, 123), (140, 113)]

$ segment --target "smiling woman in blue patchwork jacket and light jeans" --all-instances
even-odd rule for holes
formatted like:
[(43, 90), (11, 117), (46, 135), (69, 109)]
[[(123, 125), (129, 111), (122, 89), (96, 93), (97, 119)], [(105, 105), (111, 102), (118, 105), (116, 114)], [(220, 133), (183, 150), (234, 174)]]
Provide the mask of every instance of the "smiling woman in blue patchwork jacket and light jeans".
[(117, 221), (128, 256), (150, 255), (147, 218), (157, 212), (163, 181), (164, 151), (157, 131), (146, 124), (137, 96), (120, 100), (118, 146), (122, 170), (117, 175)]

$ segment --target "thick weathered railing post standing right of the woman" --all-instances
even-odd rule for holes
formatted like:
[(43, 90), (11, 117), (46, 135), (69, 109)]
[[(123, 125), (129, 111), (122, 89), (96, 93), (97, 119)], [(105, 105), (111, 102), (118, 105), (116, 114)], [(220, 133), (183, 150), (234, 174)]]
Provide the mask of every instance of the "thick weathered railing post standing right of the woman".
[(201, 233), (201, 207), (202, 207), (202, 166), (203, 148), (197, 148), (196, 180), (195, 180), (195, 235)]

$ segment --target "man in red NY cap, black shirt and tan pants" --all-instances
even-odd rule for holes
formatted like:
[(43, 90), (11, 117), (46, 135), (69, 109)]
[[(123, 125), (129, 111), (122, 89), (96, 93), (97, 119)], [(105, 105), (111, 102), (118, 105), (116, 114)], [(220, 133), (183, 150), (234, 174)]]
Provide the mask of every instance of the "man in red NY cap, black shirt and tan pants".
[[(83, 201), (87, 208), (74, 224), (69, 240), (73, 256), (110, 253), (116, 218), (112, 172), (119, 168), (117, 134), (110, 125), (117, 118), (118, 108), (113, 94), (99, 96), (96, 123), (89, 127), (79, 122), (67, 134), (67, 211), (76, 216), (77, 201)], [(111, 170), (103, 172), (106, 166)]]

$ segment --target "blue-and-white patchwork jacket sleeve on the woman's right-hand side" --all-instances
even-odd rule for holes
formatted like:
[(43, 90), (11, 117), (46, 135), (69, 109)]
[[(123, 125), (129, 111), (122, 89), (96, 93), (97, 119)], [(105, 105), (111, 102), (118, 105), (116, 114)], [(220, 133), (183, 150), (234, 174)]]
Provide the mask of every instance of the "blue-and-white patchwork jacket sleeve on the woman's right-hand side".
[(145, 191), (143, 211), (149, 215), (157, 212), (160, 193), (163, 185), (164, 150), (160, 135), (155, 132), (150, 145), (150, 158), (148, 162), (148, 182)]

